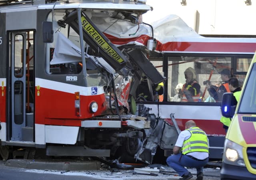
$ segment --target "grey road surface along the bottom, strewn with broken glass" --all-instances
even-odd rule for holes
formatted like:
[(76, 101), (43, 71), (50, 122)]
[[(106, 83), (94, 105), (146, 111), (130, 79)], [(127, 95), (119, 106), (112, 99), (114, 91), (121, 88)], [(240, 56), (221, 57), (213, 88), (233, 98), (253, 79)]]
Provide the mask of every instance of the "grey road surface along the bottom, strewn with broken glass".
[[(158, 166), (159, 167), (159, 166)], [(14, 168), (5, 166), (0, 161), (0, 180), (177, 180), (180, 178), (172, 168), (161, 166), (167, 173), (153, 173), (152, 175), (134, 174), (134, 170), (122, 170), (115, 168), (100, 168), (90, 171), (58, 171), (58, 170), (35, 170)], [(196, 170), (189, 169), (196, 180)], [(220, 170), (216, 168), (204, 169), (205, 180), (219, 180)], [(206, 175), (207, 174), (207, 175)]]

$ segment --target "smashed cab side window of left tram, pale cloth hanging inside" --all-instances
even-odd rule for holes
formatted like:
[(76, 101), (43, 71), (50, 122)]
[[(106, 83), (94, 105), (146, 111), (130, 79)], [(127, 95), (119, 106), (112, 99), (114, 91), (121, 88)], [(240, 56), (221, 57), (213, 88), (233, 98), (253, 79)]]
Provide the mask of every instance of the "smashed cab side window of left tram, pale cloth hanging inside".
[[(70, 27), (58, 26), (65, 10), (54, 10), (54, 41), (46, 44), (46, 72), (48, 74), (78, 74), (82, 71), (82, 58), (78, 34)], [(52, 14), (47, 21), (52, 21)]]

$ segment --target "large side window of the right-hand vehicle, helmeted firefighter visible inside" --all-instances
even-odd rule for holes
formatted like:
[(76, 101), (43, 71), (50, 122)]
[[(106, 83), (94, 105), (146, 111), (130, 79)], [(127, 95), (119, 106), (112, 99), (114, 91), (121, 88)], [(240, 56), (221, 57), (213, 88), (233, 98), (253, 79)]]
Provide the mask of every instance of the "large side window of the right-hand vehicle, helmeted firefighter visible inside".
[(224, 83), (220, 72), (231, 71), (232, 57), (169, 56), (168, 101), (215, 103), (206, 82), (217, 90)]

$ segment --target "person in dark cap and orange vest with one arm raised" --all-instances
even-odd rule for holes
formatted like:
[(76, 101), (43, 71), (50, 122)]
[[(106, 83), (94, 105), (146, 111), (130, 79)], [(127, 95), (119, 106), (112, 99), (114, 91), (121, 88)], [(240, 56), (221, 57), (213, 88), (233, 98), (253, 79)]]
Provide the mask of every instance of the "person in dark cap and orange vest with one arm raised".
[(206, 87), (209, 92), (209, 94), (214, 98), (216, 102), (222, 101), (222, 95), (224, 93), (230, 92), (230, 89), (228, 87), (228, 80), (230, 79), (230, 70), (229, 69), (223, 69), (220, 72), (222, 84), (219, 87), (216, 87), (211, 84), (210, 81), (207, 81)]

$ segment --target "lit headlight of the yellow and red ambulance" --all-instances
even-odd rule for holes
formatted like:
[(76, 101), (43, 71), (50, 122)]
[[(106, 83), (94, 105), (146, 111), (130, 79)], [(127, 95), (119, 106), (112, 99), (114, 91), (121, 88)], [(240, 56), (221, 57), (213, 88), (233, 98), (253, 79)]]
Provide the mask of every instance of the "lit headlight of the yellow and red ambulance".
[(235, 166), (245, 166), (243, 146), (226, 139), (224, 143), (223, 162)]

